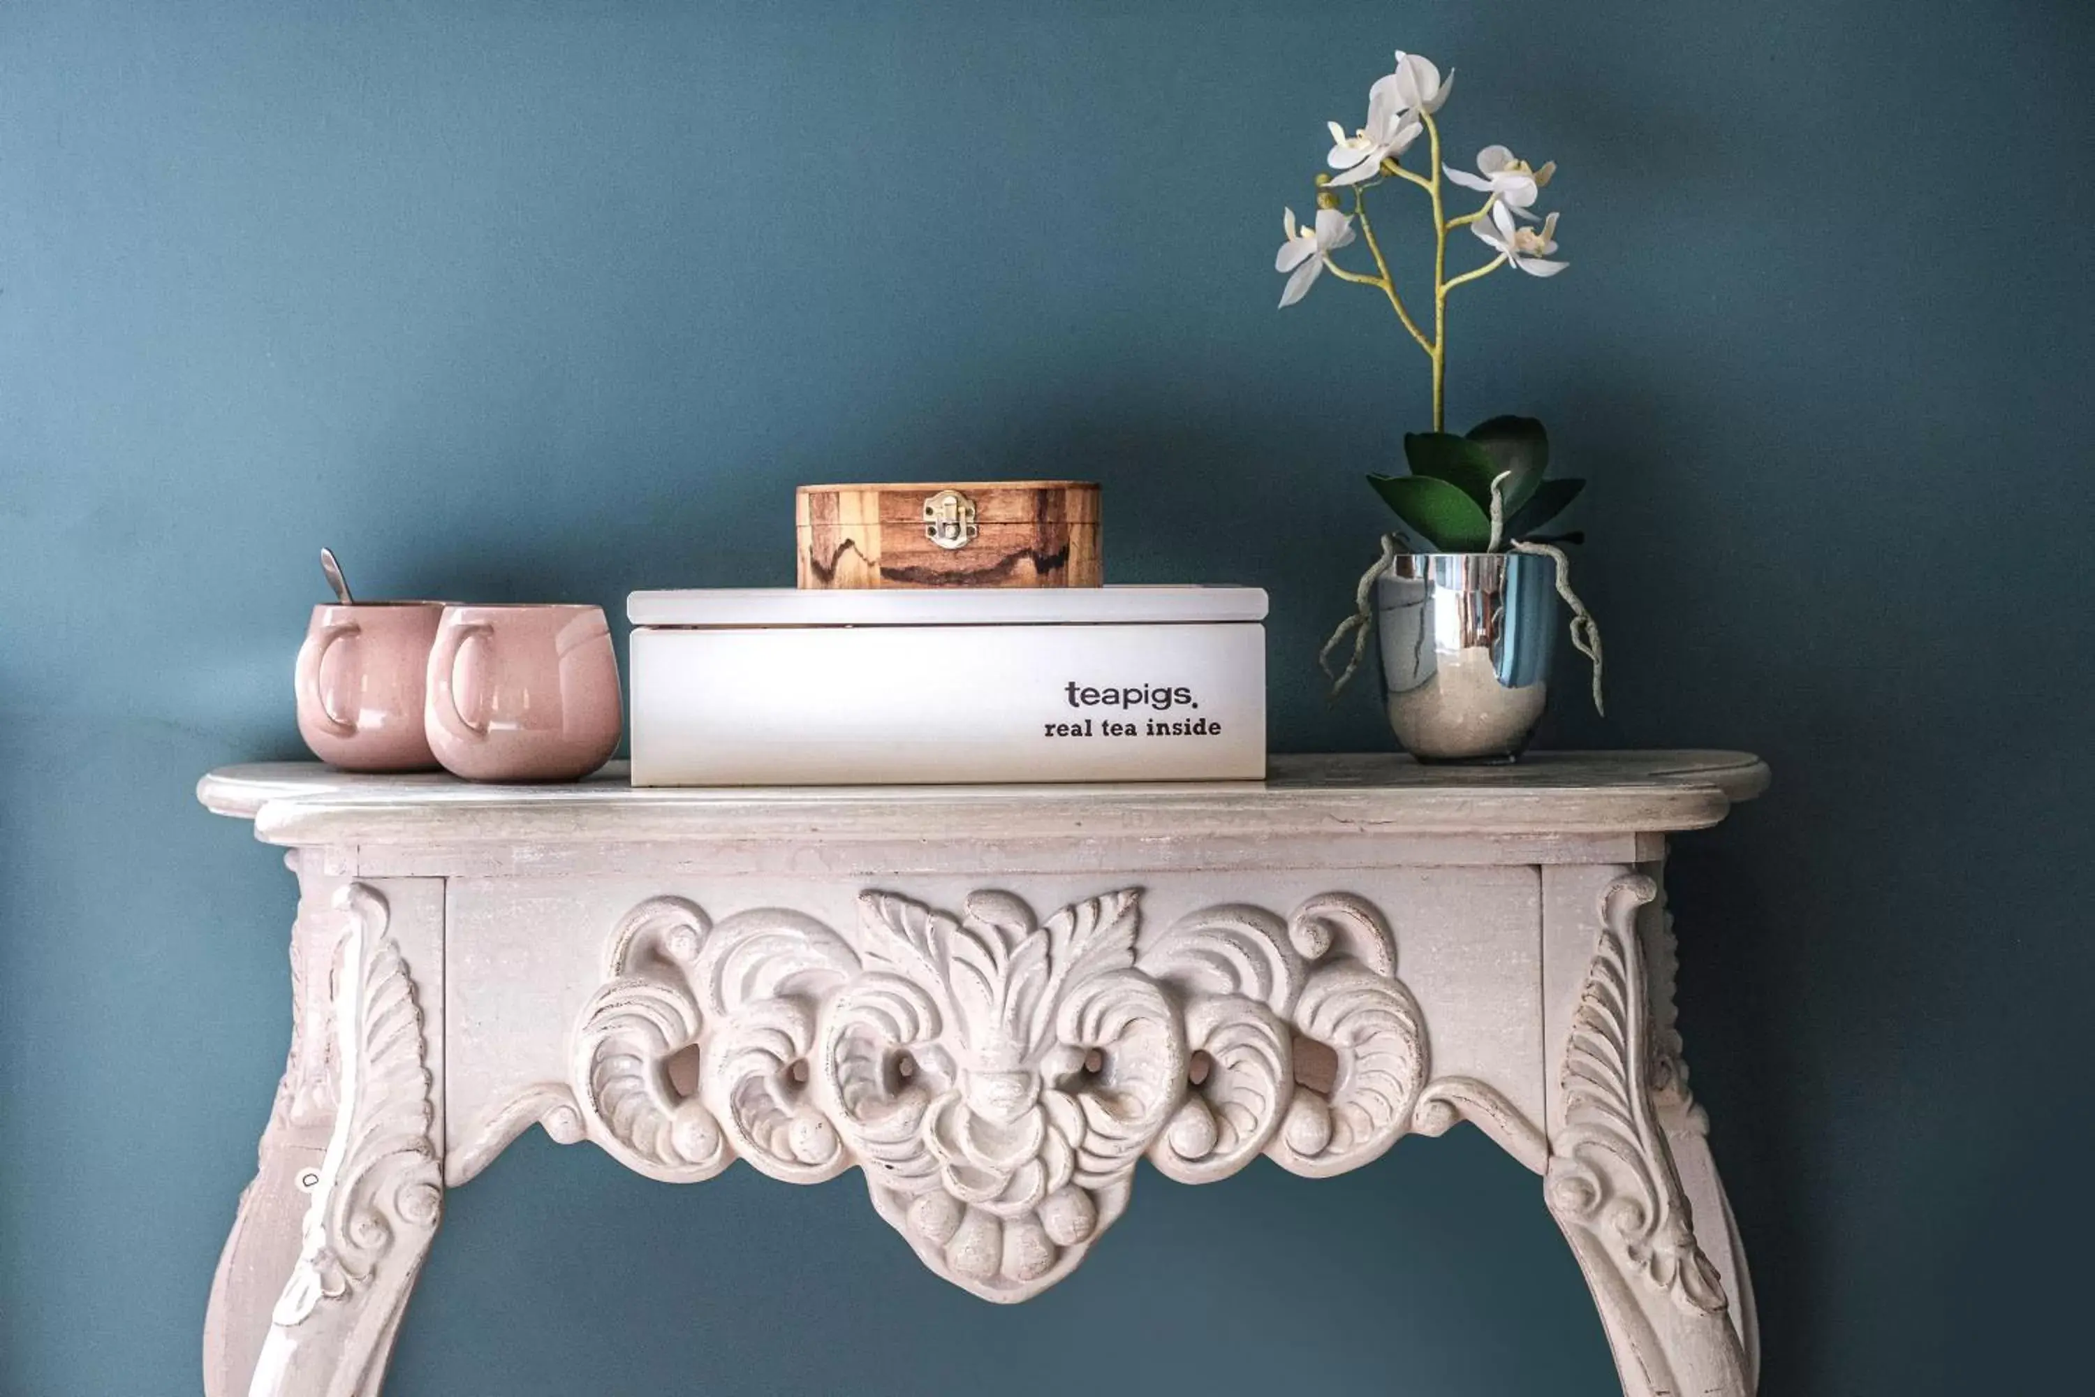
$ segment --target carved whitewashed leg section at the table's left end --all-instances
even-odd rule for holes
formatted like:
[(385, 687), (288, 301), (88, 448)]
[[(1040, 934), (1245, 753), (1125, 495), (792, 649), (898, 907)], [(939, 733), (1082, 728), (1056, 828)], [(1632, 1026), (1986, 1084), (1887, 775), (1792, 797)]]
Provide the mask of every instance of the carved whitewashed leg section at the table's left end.
[[(423, 993), (436, 917), (402, 928)], [(385, 896), (352, 882), (331, 913), (302, 905), (291, 968), (291, 1056), (212, 1284), (207, 1397), (373, 1397), (442, 1213), (423, 1012)]]

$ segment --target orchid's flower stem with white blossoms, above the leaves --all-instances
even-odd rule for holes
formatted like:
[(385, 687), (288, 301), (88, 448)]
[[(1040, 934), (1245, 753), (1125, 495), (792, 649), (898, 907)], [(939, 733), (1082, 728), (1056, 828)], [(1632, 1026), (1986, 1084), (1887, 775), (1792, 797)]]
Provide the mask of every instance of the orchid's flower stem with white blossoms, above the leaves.
[[(1477, 172), (1454, 170), (1441, 163), (1441, 134), (1435, 113), (1454, 90), (1454, 69), (1441, 77), (1431, 61), (1414, 52), (1397, 52), (1397, 67), (1368, 88), (1368, 119), (1351, 136), (1337, 121), (1330, 121), (1328, 163), (1337, 174), (1318, 176), (1316, 220), (1301, 224), (1295, 209), (1286, 209), (1282, 228), (1286, 241), (1274, 258), (1274, 270), (1286, 274), (1280, 291), (1280, 306), (1293, 306), (1324, 272), (1355, 285), (1376, 287), (1389, 297), (1389, 308), (1402, 320), (1406, 333), (1425, 350), (1433, 364), (1433, 429), (1446, 427), (1446, 383), (1448, 383), (1448, 293), (1471, 281), (1490, 276), (1502, 266), (1515, 266), (1529, 276), (1554, 276), (1565, 270), (1565, 262), (1554, 260), (1557, 214), (1542, 218), (1536, 199), (1557, 174), (1557, 163), (1540, 170), (1519, 159), (1502, 145), (1487, 145), (1477, 153)], [(1420, 174), (1404, 165), (1404, 153), (1425, 136), (1427, 172)], [(1433, 212), (1433, 331), (1427, 333), (1404, 304), (1389, 262), (1374, 237), (1368, 220), (1366, 193), (1385, 180), (1416, 184), (1427, 193)], [(1446, 186), (1456, 184), (1483, 195), (1483, 205), (1471, 214), (1448, 218)], [(1351, 207), (1343, 207), (1351, 195)], [(1358, 272), (1332, 262), (1332, 253), (1349, 247), (1358, 235), (1374, 258), (1374, 272)], [(1536, 224), (1540, 226), (1527, 226)], [(1448, 235), (1469, 228), (1494, 256), (1456, 276), (1448, 276)]]

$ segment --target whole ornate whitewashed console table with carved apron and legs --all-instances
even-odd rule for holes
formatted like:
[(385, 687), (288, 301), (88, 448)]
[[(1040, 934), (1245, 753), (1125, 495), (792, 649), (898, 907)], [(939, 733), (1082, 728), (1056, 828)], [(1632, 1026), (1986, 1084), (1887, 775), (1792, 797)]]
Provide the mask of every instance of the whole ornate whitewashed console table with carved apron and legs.
[(289, 848), (293, 1039), (212, 1397), (371, 1397), (444, 1190), (530, 1125), (656, 1179), (865, 1175), (1022, 1301), (1129, 1202), (1469, 1121), (1542, 1175), (1628, 1397), (1743, 1397), (1745, 1257), (1674, 1030), (1666, 836), (1730, 752), (1265, 783), (633, 790), (233, 767)]

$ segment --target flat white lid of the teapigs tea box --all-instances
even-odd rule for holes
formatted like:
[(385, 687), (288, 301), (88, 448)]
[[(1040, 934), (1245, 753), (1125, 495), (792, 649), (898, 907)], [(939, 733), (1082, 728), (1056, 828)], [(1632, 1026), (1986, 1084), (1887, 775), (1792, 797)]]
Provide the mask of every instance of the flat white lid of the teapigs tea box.
[(633, 593), (635, 626), (1135, 626), (1265, 620), (1259, 586), (723, 586)]

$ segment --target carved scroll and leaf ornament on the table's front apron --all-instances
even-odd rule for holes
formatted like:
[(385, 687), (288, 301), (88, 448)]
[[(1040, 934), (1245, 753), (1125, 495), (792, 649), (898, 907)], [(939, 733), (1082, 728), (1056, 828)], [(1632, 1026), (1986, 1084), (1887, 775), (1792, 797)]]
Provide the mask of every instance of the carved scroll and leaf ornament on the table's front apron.
[[(786, 909), (635, 907), (576, 1026), (572, 1091), (499, 1112), (455, 1181), (534, 1116), (668, 1181), (735, 1158), (798, 1183), (859, 1167), (926, 1265), (1020, 1301), (1121, 1215), (1144, 1154), (1192, 1183), (1259, 1154), (1341, 1173), (1402, 1137), (1427, 1089), (1395, 943), (1349, 894), (1291, 917), (1209, 907), (1146, 940), (1133, 888), (1048, 917), (997, 890), (957, 911), (867, 890), (857, 909), (846, 938)], [(1328, 1089), (1297, 1079), (1307, 1043), (1337, 1064)]]

